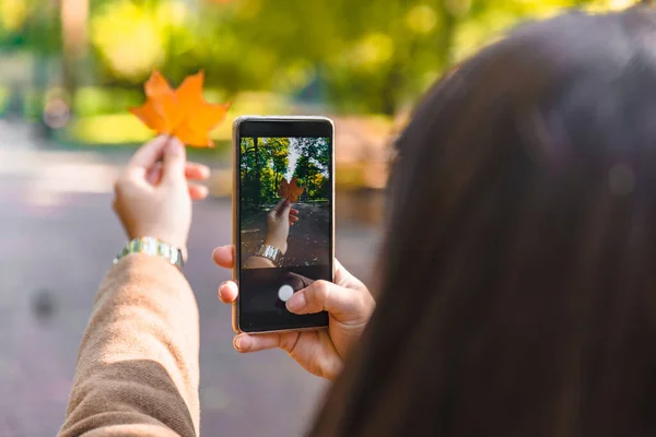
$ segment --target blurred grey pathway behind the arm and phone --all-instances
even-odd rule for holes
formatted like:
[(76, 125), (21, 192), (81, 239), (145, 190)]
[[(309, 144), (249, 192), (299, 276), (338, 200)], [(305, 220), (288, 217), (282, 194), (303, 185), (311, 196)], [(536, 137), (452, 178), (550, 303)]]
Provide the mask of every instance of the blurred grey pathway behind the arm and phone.
[[(125, 244), (109, 204), (128, 154), (47, 151), (23, 126), (0, 120), (0, 437), (54, 436), (98, 282)], [(230, 308), (215, 297), (229, 272), (210, 259), (231, 240), (229, 200), (194, 210), (186, 268), (201, 312), (201, 409), (206, 436), (302, 434), (323, 382), (271, 351), (232, 349)], [(338, 223), (337, 253), (368, 272), (377, 233)]]

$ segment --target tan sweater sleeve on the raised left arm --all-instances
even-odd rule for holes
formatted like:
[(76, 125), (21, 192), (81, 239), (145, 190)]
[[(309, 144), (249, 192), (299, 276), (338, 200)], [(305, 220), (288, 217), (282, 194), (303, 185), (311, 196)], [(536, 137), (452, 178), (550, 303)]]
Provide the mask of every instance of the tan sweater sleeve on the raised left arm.
[(103, 281), (61, 437), (197, 436), (198, 306), (180, 271), (145, 255)]

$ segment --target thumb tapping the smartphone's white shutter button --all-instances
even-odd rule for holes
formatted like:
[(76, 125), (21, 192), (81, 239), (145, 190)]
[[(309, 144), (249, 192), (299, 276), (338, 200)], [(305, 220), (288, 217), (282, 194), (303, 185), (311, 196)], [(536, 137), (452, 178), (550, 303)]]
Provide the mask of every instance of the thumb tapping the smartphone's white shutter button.
[(362, 307), (358, 293), (328, 281), (316, 281), (286, 302), (291, 312), (306, 315), (328, 311), (338, 319), (359, 319), (364, 316)]

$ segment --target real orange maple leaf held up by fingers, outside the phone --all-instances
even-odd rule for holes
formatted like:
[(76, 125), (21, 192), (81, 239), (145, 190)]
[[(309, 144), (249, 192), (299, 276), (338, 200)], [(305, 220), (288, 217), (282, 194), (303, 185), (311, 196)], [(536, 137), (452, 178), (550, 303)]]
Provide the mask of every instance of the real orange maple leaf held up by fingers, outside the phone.
[(166, 79), (153, 71), (145, 82), (145, 103), (130, 108), (149, 128), (159, 134), (177, 137), (198, 147), (213, 147), (210, 131), (225, 118), (230, 104), (214, 105), (202, 96), (203, 72), (189, 75), (173, 90)]

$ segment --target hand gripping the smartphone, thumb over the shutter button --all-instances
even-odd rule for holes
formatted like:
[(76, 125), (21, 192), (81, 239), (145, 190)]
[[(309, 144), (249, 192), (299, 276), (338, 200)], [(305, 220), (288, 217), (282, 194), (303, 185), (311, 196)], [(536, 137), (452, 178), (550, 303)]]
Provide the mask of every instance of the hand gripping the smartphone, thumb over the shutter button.
[[(235, 262), (233, 246), (216, 248), (213, 258), (219, 265), (232, 269)], [(239, 333), (233, 342), (235, 349), (249, 353), (280, 347), (311, 374), (335, 379), (376, 306), (366, 286), (337, 260), (335, 264), (335, 283), (313, 281), (296, 273), (289, 273), (286, 277), (301, 288), (286, 302), (289, 310), (296, 315), (328, 311), (328, 330)], [(219, 287), (219, 298), (225, 304), (233, 304), (238, 294), (234, 281)]]

